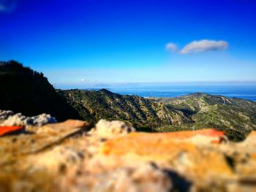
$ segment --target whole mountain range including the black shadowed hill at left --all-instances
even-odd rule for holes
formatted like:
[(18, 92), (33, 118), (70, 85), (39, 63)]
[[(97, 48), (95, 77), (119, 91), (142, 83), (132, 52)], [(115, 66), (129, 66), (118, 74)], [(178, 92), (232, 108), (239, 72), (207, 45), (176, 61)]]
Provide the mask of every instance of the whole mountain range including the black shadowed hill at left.
[(179, 98), (127, 96), (99, 91), (55, 90), (42, 73), (16, 61), (0, 62), (0, 109), (57, 120), (124, 120), (140, 131), (224, 130), (233, 140), (256, 130), (256, 102), (193, 93)]

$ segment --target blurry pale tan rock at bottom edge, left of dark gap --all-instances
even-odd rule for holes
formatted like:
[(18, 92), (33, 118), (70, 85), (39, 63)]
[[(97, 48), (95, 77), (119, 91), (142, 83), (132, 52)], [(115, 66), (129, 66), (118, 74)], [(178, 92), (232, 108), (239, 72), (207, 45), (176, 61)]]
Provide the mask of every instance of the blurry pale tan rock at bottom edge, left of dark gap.
[(153, 192), (170, 191), (172, 181), (167, 173), (152, 164), (142, 166), (124, 166), (111, 171), (95, 174), (74, 169), (61, 180), (61, 191), (124, 191), (124, 192)]

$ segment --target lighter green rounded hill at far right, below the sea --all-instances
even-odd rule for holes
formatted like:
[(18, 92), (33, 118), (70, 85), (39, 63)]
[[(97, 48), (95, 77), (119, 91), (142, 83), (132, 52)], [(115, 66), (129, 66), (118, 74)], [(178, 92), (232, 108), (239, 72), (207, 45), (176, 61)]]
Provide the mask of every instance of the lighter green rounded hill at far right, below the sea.
[[(244, 139), (249, 131), (256, 130), (255, 101), (206, 93), (193, 93), (179, 98), (159, 98), (155, 101), (189, 115), (194, 123), (184, 124), (183, 129), (218, 128), (227, 131), (234, 139)], [(165, 126), (157, 128), (157, 131), (170, 131), (173, 128), (175, 127)]]

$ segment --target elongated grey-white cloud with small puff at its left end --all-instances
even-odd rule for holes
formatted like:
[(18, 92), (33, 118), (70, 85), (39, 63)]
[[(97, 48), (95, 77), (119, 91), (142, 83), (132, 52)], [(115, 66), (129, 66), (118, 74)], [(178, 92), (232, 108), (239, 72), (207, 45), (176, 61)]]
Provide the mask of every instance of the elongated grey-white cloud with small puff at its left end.
[(225, 50), (228, 47), (228, 43), (225, 41), (215, 41), (203, 39), (200, 41), (194, 41), (183, 47), (183, 49), (178, 50), (178, 47), (173, 43), (167, 43), (166, 50), (172, 52), (178, 52), (181, 54), (187, 53), (198, 53), (198, 52), (206, 52), (206, 51), (217, 51), (217, 50)]

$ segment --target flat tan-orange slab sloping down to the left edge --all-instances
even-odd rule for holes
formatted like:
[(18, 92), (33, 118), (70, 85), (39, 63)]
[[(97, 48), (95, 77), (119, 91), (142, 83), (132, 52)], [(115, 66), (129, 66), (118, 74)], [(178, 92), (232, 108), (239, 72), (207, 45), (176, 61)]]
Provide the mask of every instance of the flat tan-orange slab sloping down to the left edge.
[(86, 126), (86, 121), (67, 120), (42, 126), (33, 134), (1, 137), (0, 153), (5, 155), (0, 158), (0, 166), (8, 164), (8, 161), (18, 161), (24, 155), (38, 153), (57, 145)]

